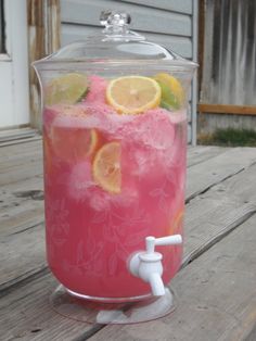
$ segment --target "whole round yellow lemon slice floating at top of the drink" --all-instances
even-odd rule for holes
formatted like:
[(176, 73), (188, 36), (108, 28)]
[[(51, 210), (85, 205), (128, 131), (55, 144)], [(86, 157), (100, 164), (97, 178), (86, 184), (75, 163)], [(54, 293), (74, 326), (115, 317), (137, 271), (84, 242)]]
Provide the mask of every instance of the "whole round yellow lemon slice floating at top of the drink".
[(119, 77), (108, 84), (106, 100), (119, 113), (139, 114), (159, 105), (161, 87), (149, 77)]

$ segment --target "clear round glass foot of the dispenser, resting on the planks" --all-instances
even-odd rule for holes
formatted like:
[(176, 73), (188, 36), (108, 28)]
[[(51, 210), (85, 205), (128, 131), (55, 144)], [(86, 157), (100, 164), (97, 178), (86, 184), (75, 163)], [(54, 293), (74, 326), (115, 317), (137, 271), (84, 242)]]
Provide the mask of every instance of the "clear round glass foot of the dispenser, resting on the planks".
[(50, 296), (52, 308), (62, 316), (74, 320), (102, 324), (125, 325), (149, 321), (164, 317), (176, 308), (176, 295), (165, 288), (163, 296), (150, 296), (137, 302), (104, 303), (74, 295), (59, 286)]

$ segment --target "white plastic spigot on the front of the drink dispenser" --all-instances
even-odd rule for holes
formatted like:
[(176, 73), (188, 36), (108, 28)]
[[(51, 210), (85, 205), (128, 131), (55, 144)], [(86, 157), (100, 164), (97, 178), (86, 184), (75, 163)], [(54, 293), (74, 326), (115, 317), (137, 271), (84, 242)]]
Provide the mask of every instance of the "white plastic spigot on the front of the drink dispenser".
[(182, 237), (180, 235), (172, 235), (162, 238), (149, 236), (145, 238), (145, 251), (140, 251), (132, 255), (129, 262), (130, 273), (133, 276), (140, 277), (142, 280), (149, 282), (153, 295), (162, 296), (165, 294), (165, 287), (162, 280), (163, 255), (159, 252), (155, 252), (155, 247), (175, 245), (181, 243)]

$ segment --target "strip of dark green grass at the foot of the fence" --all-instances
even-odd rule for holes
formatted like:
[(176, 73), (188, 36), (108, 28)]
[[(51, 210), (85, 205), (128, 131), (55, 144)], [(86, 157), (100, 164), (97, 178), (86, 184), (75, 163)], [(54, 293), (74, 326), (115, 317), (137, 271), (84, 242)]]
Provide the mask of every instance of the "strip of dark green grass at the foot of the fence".
[(201, 135), (200, 144), (225, 147), (256, 147), (256, 131), (252, 129), (217, 129), (213, 135)]

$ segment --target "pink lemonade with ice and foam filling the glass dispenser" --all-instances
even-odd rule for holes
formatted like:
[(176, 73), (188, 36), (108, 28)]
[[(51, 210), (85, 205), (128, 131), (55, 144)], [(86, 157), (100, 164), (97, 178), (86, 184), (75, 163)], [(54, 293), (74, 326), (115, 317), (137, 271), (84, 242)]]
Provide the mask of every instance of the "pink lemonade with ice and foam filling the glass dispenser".
[[(151, 294), (128, 269), (146, 236), (182, 235), (187, 121), (184, 110), (159, 105), (121, 115), (105, 100), (106, 84), (91, 76), (79, 103), (44, 106), (46, 225), (57, 280), (77, 294), (114, 302)], [(111, 162), (116, 182), (104, 179)], [(168, 283), (182, 245), (156, 251)]]

